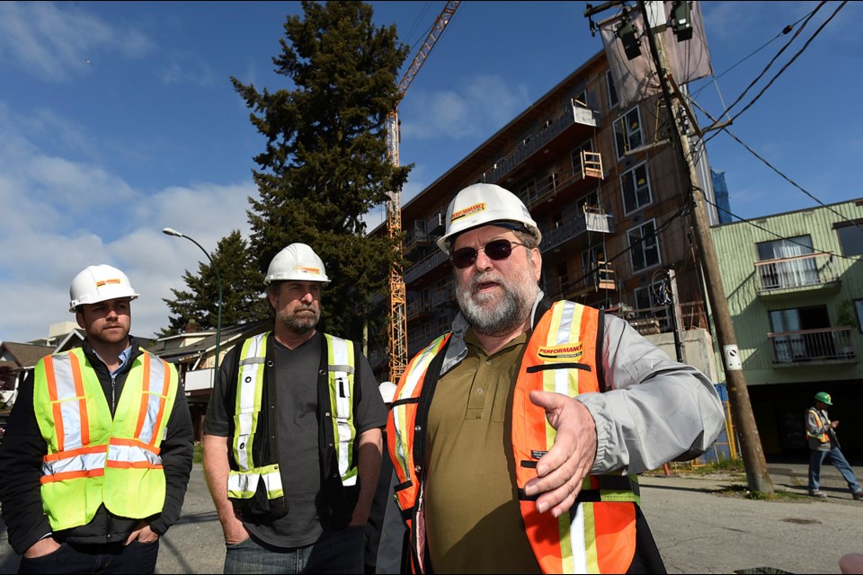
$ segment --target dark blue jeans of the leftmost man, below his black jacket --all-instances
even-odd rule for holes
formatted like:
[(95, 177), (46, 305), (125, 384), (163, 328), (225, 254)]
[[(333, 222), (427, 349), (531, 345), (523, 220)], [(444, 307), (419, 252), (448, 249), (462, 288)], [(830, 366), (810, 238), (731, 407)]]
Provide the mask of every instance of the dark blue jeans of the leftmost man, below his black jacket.
[(159, 542), (124, 545), (61, 544), (57, 551), (21, 558), (19, 573), (155, 573)]

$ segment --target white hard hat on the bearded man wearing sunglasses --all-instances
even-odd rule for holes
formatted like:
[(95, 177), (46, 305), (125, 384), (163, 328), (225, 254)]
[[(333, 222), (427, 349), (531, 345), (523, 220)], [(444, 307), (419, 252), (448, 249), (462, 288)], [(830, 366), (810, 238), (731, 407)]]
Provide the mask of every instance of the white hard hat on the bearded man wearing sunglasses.
[(517, 226), (542, 239), (537, 223), (530, 217), (518, 196), (493, 183), (475, 183), (456, 194), (447, 208), (447, 228), (437, 240), (438, 247), (449, 253), (449, 243), (467, 230), (489, 224)]

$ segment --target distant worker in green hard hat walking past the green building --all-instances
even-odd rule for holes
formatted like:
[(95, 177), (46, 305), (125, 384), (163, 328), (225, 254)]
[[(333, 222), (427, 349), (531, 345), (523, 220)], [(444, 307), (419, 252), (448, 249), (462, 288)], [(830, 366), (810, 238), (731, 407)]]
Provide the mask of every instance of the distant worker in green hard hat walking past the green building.
[(827, 497), (827, 494), (820, 489), (821, 467), (826, 462), (838, 469), (845, 478), (851, 497), (855, 500), (863, 500), (860, 483), (839, 448), (839, 439), (836, 438), (835, 431), (839, 421), (831, 421), (827, 417), (827, 408), (833, 405), (832, 398), (826, 392), (819, 392), (813, 399), (815, 404), (806, 410), (805, 420), (806, 440), (809, 443), (809, 495), (822, 499)]

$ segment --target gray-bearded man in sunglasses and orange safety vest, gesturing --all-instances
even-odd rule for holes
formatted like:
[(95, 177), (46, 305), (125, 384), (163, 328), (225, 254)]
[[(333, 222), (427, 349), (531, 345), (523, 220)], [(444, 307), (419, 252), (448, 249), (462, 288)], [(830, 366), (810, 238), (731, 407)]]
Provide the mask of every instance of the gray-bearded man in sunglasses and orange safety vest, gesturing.
[(409, 363), (387, 421), (416, 572), (664, 572), (636, 473), (703, 453), (714, 385), (627, 322), (538, 288), (521, 200), (474, 184), (437, 241), (460, 312)]

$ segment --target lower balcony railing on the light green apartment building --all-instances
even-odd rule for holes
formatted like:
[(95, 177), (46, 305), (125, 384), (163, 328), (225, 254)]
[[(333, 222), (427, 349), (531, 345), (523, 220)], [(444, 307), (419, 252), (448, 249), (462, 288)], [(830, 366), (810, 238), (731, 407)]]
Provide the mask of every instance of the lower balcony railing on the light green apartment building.
[(857, 361), (850, 327), (768, 333), (773, 365), (789, 366), (801, 361)]

